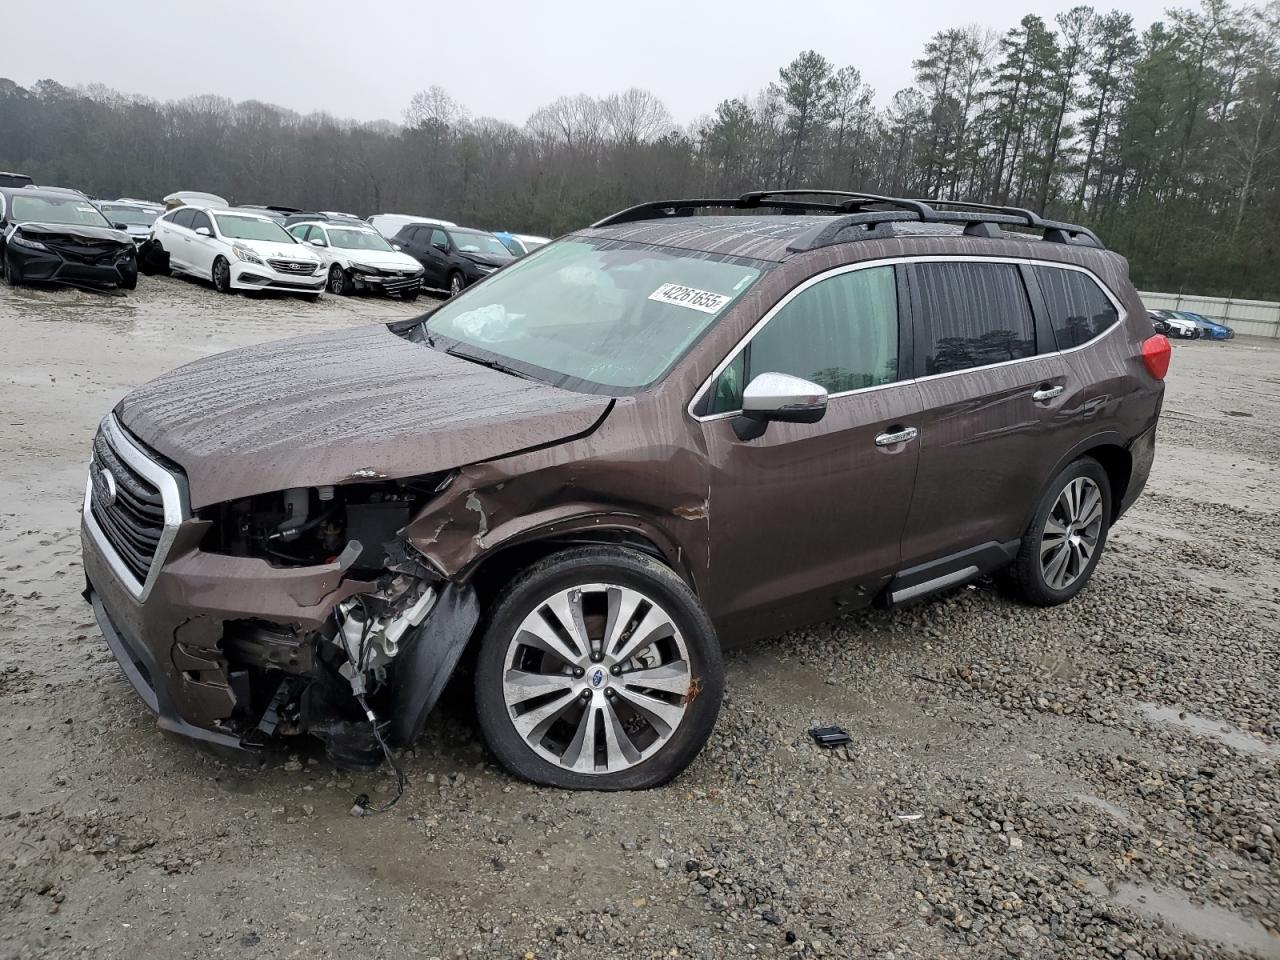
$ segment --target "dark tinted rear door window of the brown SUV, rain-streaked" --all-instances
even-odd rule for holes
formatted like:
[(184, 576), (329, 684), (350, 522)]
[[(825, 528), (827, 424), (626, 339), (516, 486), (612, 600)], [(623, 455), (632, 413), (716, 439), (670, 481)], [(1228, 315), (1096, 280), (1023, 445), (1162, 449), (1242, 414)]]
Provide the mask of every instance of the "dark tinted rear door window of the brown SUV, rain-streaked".
[(1036, 356), (1036, 320), (1016, 264), (914, 264), (924, 375)]

